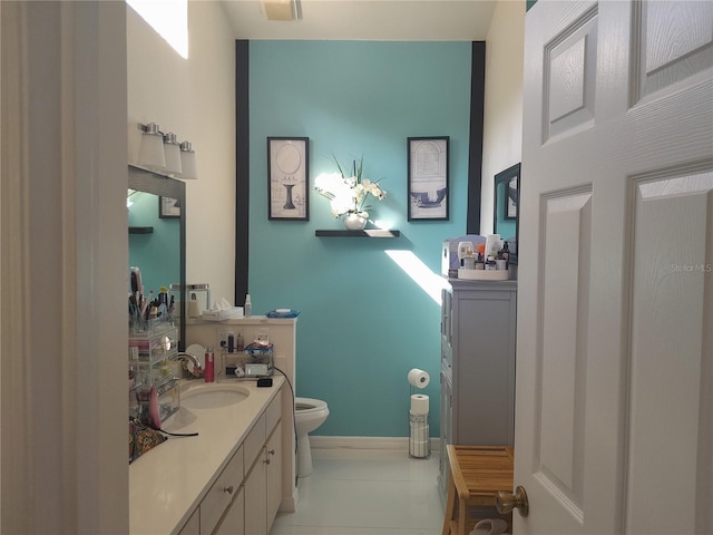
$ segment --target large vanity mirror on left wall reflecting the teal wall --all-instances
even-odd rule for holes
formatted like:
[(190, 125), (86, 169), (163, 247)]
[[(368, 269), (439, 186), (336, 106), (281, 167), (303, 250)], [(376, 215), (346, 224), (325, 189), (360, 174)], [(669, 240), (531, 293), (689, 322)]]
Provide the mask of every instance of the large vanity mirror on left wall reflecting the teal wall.
[[(186, 185), (129, 165), (127, 213), (129, 266), (141, 270), (145, 294), (172, 284), (186, 286)], [(185, 300), (175, 294), (178, 350), (185, 350)]]

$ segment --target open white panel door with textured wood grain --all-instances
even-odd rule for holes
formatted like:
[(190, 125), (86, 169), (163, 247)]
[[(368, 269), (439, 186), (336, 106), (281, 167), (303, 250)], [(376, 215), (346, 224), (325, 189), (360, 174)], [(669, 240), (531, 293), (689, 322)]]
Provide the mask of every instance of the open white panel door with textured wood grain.
[(713, 2), (527, 13), (521, 534), (713, 533)]

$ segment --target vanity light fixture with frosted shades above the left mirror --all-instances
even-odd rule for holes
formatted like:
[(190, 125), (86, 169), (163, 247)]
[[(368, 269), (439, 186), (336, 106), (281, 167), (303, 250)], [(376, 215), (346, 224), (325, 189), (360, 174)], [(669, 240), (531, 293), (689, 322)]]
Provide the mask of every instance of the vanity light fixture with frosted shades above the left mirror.
[(196, 153), (189, 142), (178, 143), (173, 132), (160, 132), (156, 123), (138, 124), (143, 132), (137, 164), (166, 176), (196, 179)]

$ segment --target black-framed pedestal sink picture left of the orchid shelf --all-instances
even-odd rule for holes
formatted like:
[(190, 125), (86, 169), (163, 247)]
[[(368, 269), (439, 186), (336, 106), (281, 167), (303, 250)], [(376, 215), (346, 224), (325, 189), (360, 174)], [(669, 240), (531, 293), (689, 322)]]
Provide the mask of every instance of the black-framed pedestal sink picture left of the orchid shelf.
[(310, 221), (310, 138), (267, 138), (267, 218)]

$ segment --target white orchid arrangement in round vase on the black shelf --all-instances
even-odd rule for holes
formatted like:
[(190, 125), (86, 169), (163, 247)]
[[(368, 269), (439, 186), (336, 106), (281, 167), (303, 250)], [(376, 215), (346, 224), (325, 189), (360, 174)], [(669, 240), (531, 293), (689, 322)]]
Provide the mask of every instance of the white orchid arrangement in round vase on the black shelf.
[(356, 214), (361, 217), (369, 217), (371, 205), (367, 204), (369, 195), (378, 201), (387, 197), (387, 192), (381, 188), (379, 181), (370, 181), (363, 177), (364, 156), (352, 162), (352, 174), (346, 176), (344, 168), (336, 157), (332, 155), (339, 173), (328, 173), (319, 175), (314, 179), (314, 189), (320, 195), (330, 200), (332, 215), (340, 217), (344, 214)]

